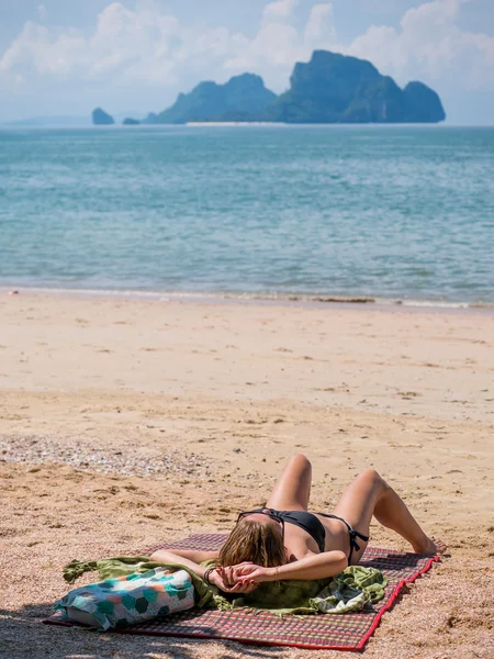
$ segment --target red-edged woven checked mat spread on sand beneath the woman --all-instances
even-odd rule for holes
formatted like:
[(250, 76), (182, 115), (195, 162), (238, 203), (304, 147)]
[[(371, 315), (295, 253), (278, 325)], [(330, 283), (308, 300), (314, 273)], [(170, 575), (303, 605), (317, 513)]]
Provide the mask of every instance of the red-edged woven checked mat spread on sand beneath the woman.
[[(221, 534), (194, 535), (181, 541), (154, 547), (149, 552), (159, 548), (207, 551), (221, 547), (225, 538)], [(378, 603), (369, 602), (359, 613), (280, 617), (270, 611), (259, 611), (252, 615), (252, 611), (246, 608), (224, 611), (194, 607), (121, 629), (119, 633), (229, 639), (306, 649), (361, 650), (404, 585), (427, 572), (437, 560), (437, 556), (368, 547), (360, 563), (381, 571), (388, 583), (384, 597)], [(43, 622), (70, 625), (59, 613)]]

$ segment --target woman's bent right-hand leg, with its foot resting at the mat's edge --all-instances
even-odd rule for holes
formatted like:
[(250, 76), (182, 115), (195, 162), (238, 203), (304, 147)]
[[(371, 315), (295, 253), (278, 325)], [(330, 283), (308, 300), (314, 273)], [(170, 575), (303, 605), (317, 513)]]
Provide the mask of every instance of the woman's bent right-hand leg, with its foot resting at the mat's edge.
[[(368, 535), (374, 516), (383, 526), (405, 538), (417, 554), (446, 550), (444, 543), (435, 543), (422, 530), (402, 499), (373, 469), (363, 471), (348, 485), (335, 507), (335, 514), (364, 535)], [(357, 556), (360, 558), (362, 552), (363, 547)]]

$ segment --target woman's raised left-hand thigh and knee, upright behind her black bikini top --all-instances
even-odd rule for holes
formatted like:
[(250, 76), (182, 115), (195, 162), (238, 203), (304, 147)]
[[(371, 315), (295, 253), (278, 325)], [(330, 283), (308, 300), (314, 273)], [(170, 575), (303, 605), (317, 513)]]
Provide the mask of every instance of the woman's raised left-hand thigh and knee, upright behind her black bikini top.
[(283, 467), (266, 506), (278, 511), (306, 511), (311, 482), (311, 462), (305, 456), (293, 456)]

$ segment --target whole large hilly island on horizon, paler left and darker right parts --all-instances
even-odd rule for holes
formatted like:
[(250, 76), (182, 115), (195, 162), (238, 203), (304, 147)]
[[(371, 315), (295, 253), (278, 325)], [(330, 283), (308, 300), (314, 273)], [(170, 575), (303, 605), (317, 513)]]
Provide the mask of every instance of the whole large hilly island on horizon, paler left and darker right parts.
[(401, 89), (366, 59), (314, 51), (296, 63), (290, 89), (277, 97), (262, 78), (244, 74), (225, 85), (200, 82), (171, 108), (143, 123), (436, 123), (446, 119), (438, 94), (423, 82)]

